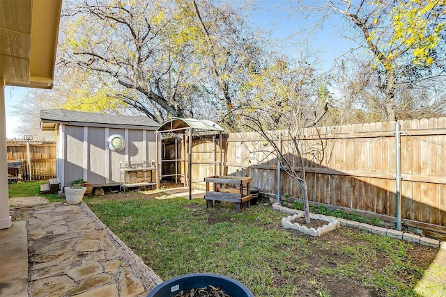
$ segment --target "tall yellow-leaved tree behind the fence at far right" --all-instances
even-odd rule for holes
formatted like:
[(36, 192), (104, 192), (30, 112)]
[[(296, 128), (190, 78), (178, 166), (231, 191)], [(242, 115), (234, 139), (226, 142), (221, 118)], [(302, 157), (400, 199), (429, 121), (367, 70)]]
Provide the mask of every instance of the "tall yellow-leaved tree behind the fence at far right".
[[(322, 18), (339, 15), (346, 20), (351, 30), (344, 30), (344, 34), (357, 42), (358, 47), (351, 54), (356, 63), (361, 61), (366, 67), (358, 74), (368, 72), (368, 87), (374, 85), (372, 107), (380, 120), (397, 120), (408, 113), (407, 97), (402, 98), (406, 90), (426, 90), (426, 81), (445, 76), (445, 34), (442, 33), (445, 8), (440, 3), (412, 0), (330, 0), (321, 6), (318, 1), (311, 5), (305, 1), (300, 3), (300, 11), (306, 15), (318, 13)], [(422, 26), (424, 23), (427, 25)], [(341, 60), (340, 67), (350, 67), (346, 59)], [(376, 89), (381, 96), (376, 94)], [(372, 103), (371, 97), (365, 96), (368, 97), (365, 102)], [(428, 100), (424, 106), (431, 103)]]

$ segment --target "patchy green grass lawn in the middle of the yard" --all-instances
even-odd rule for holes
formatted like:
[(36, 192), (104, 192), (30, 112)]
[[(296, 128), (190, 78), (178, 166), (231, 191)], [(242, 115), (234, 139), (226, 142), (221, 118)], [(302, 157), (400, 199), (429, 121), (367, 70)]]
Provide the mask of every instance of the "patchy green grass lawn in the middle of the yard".
[(254, 296), (419, 296), (437, 250), (342, 227), (321, 238), (282, 229), (282, 213), (256, 205), (206, 209), (204, 200), (84, 198), (164, 280), (217, 273)]

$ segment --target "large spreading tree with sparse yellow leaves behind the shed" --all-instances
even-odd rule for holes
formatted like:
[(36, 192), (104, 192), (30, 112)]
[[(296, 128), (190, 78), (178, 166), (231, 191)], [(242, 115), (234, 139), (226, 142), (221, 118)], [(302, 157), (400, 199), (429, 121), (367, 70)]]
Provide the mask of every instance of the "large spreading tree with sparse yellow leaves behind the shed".
[(61, 67), (88, 73), (102, 97), (160, 122), (227, 114), (233, 73), (252, 53), (237, 12), (213, 1), (201, 11), (194, 2), (121, 2), (66, 1)]

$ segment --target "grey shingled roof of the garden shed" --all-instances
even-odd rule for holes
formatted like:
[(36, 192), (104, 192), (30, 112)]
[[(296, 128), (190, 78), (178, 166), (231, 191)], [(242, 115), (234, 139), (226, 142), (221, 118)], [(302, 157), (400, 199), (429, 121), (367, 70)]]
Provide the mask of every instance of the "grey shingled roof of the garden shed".
[(40, 129), (43, 131), (55, 130), (59, 124), (146, 130), (155, 130), (160, 127), (160, 124), (146, 116), (86, 113), (83, 111), (68, 111), (66, 109), (44, 109), (40, 111)]

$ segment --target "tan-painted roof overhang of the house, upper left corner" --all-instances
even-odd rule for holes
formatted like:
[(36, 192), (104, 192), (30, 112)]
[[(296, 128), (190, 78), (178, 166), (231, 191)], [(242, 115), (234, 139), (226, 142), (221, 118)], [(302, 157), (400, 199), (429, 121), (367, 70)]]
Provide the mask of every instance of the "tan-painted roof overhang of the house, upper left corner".
[(8, 86), (52, 88), (61, 0), (0, 1), (0, 78)]

